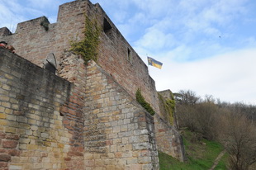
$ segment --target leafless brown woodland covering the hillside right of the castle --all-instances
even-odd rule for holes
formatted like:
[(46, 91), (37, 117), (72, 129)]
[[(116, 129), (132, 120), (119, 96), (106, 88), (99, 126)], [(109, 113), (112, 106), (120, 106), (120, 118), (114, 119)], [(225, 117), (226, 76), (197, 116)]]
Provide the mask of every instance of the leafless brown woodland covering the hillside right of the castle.
[(197, 133), (197, 139), (219, 141), (230, 154), (232, 170), (247, 170), (256, 162), (256, 106), (221, 102), (211, 95), (174, 93), (178, 127)]

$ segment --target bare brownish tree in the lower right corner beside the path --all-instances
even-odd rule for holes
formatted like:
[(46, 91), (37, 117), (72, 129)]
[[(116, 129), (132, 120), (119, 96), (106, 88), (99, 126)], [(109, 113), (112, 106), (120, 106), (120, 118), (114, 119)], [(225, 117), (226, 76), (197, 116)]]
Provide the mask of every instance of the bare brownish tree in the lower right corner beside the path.
[(256, 162), (256, 127), (242, 114), (221, 116), (220, 142), (230, 153), (232, 170), (248, 170)]

